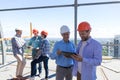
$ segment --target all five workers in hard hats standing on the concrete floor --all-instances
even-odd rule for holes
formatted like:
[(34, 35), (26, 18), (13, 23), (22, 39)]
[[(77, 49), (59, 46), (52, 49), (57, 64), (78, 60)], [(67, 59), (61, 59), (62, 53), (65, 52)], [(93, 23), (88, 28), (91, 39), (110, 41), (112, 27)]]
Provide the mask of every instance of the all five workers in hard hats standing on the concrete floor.
[[(42, 30), (39, 34), (39, 30), (33, 29), (34, 35), (26, 45), (26, 42), (21, 38), (22, 29), (16, 28), (16, 34), (11, 40), (13, 54), (17, 60), (16, 78), (24, 78), (22, 73), (26, 60), (23, 55), (24, 46), (27, 46), (28, 49), (32, 49), (31, 79), (36, 76), (41, 77), (41, 62), (43, 62), (45, 69), (44, 78), (48, 80), (48, 61), (52, 59), (56, 63), (55, 80), (73, 80), (73, 76), (76, 76), (76, 80), (96, 80), (96, 67), (101, 65), (102, 62), (102, 46), (91, 37), (91, 30), (91, 25), (86, 21), (78, 25), (76, 31), (79, 33), (80, 41), (76, 47), (70, 41), (70, 28), (67, 25), (62, 25), (60, 27), (62, 38), (55, 42), (50, 52), (51, 46), (46, 30)], [(38, 74), (36, 74), (37, 70)]]

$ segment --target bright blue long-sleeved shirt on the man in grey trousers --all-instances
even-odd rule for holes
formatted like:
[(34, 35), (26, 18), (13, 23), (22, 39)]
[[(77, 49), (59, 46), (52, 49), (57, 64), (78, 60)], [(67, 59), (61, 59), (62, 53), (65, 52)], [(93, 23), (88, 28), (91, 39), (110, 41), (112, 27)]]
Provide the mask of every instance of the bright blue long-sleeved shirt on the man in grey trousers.
[(50, 57), (52, 59), (55, 59), (56, 64), (59, 66), (68, 67), (74, 64), (72, 58), (66, 58), (62, 54), (58, 55), (57, 50), (66, 51), (66, 52), (75, 52), (75, 46), (72, 42), (70, 41), (64, 42), (64, 40), (56, 42)]

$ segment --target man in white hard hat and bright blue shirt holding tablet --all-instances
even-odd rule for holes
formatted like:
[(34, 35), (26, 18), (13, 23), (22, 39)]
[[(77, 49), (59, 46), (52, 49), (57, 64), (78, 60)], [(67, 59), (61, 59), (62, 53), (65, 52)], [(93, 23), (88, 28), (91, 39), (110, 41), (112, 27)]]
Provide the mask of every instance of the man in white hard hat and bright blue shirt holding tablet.
[(53, 51), (50, 55), (51, 59), (56, 60), (56, 80), (72, 80), (73, 59), (65, 56), (63, 52), (75, 53), (75, 46), (69, 40), (70, 29), (68, 26), (63, 25), (60, 28), (62, 40), (55, 43)]

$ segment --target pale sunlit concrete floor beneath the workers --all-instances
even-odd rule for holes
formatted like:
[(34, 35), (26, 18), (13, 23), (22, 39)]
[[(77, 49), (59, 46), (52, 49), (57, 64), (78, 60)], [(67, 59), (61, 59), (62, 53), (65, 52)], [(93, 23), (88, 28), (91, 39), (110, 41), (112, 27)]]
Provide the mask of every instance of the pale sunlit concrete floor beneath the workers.
[[(1, 59), (1, 56), (0, 56)], [(30, 59), (26, 59), (27, 64), (23, 76), (30, 76)], [(11, 80), (15, 77), (16, 60), (12, 55), (6, 56), (6, 64), (0, 65), (0, 80)], [(54, 60), (49, 60), (49, 79), (55, 80), (56, 64)], [(42, 68), (41, 77), (35, 77), (34, 80), (44, 80), (44, 69)], [(101, 66), (97, 67), (97, 80), (119, 80), (120, 79), (120, 60), (103, 60)], [(27, 79), (30, 80), (30, 79)], [(73, 80), (76, 80), (73, 77)]]

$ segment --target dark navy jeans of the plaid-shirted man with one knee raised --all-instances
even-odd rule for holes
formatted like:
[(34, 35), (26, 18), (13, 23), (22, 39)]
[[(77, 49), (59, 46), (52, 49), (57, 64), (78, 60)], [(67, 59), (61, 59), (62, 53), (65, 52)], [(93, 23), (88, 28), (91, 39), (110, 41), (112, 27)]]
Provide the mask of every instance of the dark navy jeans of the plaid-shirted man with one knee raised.
[(31, 62), (31, 76), (35, 76), (36, 74), (36, 64), (43, 61), (44, 69), (45, 69), (45, 78), (48, 78), (48, 60), (47, 56), (40, 56), (38, 59), (35, 59)]

